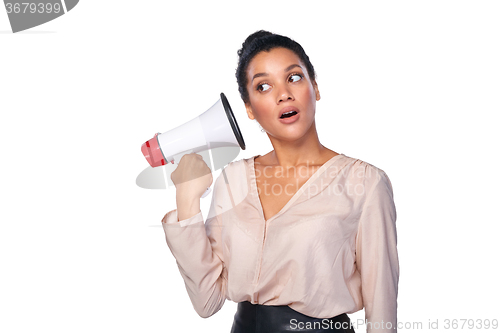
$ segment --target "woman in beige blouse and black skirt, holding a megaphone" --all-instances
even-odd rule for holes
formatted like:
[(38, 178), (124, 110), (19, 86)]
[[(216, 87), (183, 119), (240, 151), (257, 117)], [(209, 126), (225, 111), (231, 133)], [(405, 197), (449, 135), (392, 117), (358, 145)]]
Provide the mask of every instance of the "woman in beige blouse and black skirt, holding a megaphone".
[(202, 317), (238, 302), (232, 332), (396, 331), (399, 265), (392, 186), (380, 169), (319, 142), (314, 67), (295, 41), (266, 31), (238, 51), (239, 91), (274, 150), (230, 163), (214, 185), (200, 155), (172, 173), (166, 240)]

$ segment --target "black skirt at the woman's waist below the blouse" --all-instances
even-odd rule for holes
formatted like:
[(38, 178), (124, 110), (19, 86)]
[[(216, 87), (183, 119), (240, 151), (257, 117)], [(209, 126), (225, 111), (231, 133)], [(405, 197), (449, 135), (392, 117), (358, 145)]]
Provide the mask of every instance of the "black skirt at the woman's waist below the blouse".
[(313, 318), (287, 305), (238, 303), (231, 333), (342, 332), (354, 333), (349, 317)]

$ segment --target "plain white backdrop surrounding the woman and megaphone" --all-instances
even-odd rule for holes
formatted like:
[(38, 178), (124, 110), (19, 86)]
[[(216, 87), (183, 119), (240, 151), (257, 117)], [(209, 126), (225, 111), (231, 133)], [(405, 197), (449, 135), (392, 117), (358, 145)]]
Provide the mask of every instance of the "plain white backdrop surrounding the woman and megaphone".
[(12, 34), (0, 9), (0, 331), (229, 332), (236, 304), (198, 317), (159, 227), (175, 190), (135, 178), (141, 144), (220, 92), (238, 159), (272, 149), (234, 77), (259, 29), (310, 56), (323, 145), (392, 181), (399, 321), (422, 323), (400, 331), (500, 319), (499, 15), (498, 1), (82, 0)]

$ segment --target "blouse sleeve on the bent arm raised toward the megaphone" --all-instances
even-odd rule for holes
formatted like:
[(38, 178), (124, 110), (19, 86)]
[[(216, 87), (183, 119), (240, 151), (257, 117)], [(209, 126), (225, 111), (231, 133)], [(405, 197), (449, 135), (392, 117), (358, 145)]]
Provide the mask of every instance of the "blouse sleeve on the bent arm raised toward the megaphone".
[(201, 211), (191, 218), (178, 221), (177, 210), (172, 210), (162, 219), (167, 245), (176, 259), (191, 303), (203, 318), (219, 311), (226, 300), (222, 227), (215, 204), (220, 178), (214, 184), (210, 212), (205, 223)]

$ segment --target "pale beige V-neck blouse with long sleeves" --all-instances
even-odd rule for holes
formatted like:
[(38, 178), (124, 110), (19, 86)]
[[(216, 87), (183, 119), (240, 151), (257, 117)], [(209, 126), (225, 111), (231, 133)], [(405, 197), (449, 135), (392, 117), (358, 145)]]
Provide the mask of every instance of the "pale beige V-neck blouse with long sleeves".
[(162, 220), (196, 312), (209, 317), (226, 299), (316, 318), (364, 307), (368, 332), (395, 332), (396, 208), (385, 172), (334, 156), (266, 221), (255, 157), (224, 168), (205, 223), (201, 212), (178, 221), (176, 210)]

